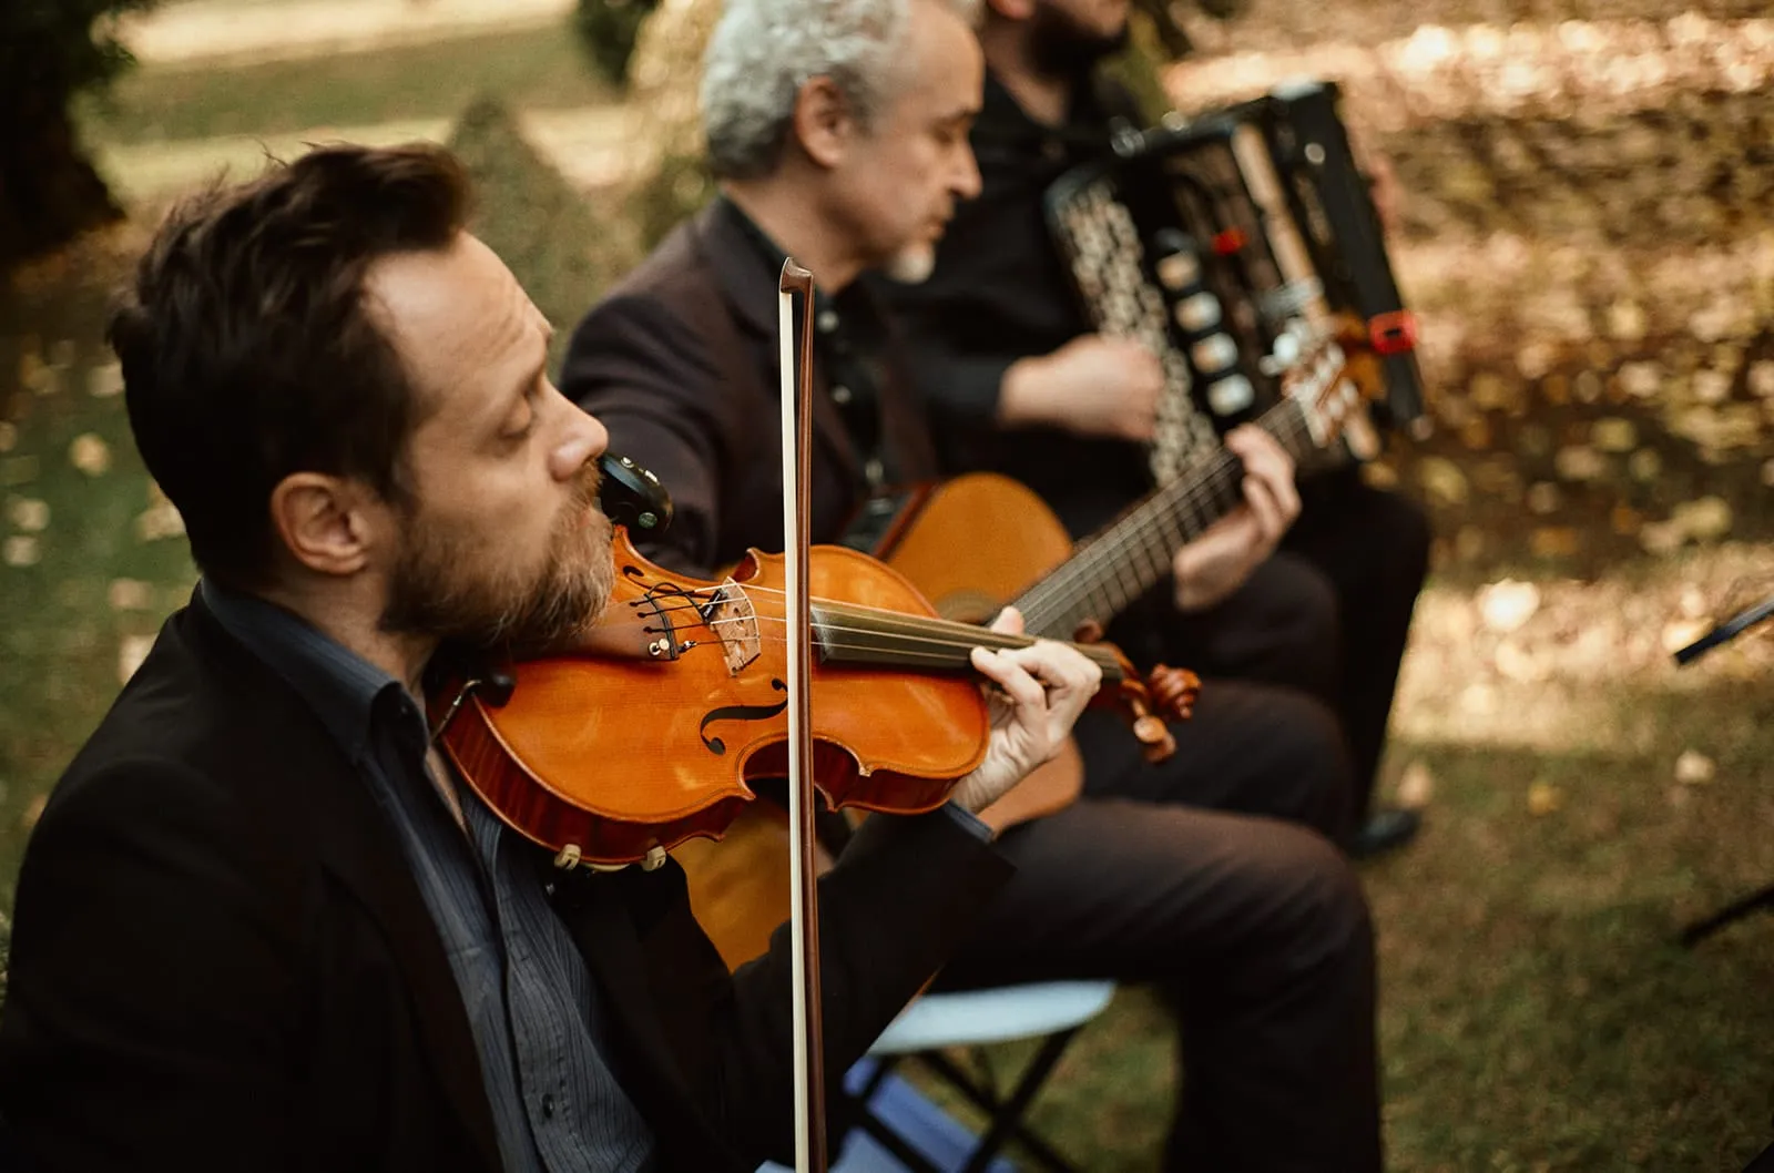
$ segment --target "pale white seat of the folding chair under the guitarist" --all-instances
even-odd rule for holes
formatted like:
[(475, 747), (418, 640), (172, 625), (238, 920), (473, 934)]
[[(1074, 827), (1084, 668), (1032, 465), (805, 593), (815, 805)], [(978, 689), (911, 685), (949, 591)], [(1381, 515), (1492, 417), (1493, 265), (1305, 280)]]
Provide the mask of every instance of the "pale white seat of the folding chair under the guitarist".
[(1057, 1035), (1100, 1015), (1111, 997), (1112, 981), (1040, 981), (924, 994), (887, 1024), (869, 1054), (914, 1054)]

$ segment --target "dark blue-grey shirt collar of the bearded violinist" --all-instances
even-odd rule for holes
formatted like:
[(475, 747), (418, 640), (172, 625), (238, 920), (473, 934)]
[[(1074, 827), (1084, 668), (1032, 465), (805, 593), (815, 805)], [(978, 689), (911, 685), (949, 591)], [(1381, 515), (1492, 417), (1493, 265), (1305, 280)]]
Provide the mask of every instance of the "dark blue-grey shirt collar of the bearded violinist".
[(410, 712), (424, 729), (401, 681), (309, 621), (209, 579), (197, 589), (216, 623), (296, 690), (353, 761), (369, 751), (378, 705)]

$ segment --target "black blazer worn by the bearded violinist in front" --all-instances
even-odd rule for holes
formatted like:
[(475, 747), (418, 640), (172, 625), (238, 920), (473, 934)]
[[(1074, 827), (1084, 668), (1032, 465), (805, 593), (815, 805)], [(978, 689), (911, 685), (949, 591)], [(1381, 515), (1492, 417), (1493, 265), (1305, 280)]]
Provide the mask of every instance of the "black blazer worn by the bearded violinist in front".
[[(821, 882), (834, 1079), (1008, 871), (946, 816), (869, 820)], [(729, 976), (676, 864), (553, 878), (662, 1168), (750, 1173), (782, 1152), (788, 935)], [(0, 1116), (39, 1173), (500, 1168), (394, 827), (200, 600), (167, 621), (27, 848)]]

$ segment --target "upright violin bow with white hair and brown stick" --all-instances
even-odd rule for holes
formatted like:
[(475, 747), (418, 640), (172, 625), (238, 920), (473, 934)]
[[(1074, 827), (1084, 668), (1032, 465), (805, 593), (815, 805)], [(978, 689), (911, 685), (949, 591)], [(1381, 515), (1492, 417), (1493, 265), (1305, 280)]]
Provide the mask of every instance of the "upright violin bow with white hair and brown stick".
[[(795, 1169), (825, 1173), (825, 1040), (820, 1017), (820, 893), (812, 823), (812, 602), (807, 587), (812, 479), (812, 273), (782, 261), (777, 286), (782, 366), (782, 561), (788, 618), (788, 850), (795, 1038)], [(795, 355), (800, 293), (800, 364)]]

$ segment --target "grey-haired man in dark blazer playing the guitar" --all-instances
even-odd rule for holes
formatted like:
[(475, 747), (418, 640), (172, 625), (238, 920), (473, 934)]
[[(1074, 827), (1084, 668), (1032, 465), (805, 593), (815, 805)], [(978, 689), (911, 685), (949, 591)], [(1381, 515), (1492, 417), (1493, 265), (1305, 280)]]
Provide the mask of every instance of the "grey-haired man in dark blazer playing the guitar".
[[(561, 380), (671, 484), (667, 564), (706, 573), (781, 548), (784, 254), (818, 282), (814, 541), (839, 538), (873, 486), (935, 470), (859, 277), (928, 263), (954, 201), (977, 193), (972, 14), (727, 0), (703, 76), (722, 195), (585, 316)], [(1286, 481), (1268, 456), (1252, 447), (1252, 495)], [(1018, 871), (938, 981), (1157, 981), (1181, 1010), (1187, 1070), (1164, 1168), (1378, 1169), (1373, 941), (1327, 839), (1348, 802), (1334, 719), (1302, 694), (1206, 681), (1174, 758), (1150, 767), (1125, 726), (1091, 717), (1086, 797), (1001, 836)]]

